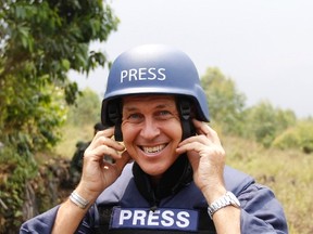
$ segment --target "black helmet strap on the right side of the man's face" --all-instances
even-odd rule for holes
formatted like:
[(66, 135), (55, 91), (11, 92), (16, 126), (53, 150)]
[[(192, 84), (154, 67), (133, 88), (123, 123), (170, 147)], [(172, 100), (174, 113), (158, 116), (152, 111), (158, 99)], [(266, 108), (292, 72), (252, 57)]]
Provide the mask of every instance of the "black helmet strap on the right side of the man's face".
[(183, 128), (181, 141), (196, 134), (195, 127), (191, 121), (191, 104), (189, 100), (180, 99), (178, 102), (178, 110)]

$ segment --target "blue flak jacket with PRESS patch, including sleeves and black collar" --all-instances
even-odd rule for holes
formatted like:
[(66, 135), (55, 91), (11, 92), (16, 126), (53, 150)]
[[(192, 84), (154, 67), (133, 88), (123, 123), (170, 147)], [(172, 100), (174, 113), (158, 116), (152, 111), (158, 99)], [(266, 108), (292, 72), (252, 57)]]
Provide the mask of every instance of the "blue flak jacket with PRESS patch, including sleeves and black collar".
[[(76, 233), (216, 233), (208, 203), (184, 164), (174, 165), (156, 188), (136, 162), (127, 165), (90, 207)], [(284, 210), (268, 187), (227, 166), (224, 178), (241, 204), (242, 234), (288, 233)], [(50, 234), (58, 209), (26, 221), (20, 233)]]

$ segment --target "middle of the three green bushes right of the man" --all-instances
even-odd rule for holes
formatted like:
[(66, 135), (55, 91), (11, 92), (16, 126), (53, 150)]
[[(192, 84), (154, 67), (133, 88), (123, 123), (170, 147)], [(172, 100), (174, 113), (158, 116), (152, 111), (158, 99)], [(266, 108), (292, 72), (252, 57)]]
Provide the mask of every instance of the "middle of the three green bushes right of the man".
[(291, 110), (274, 108), (268, 102), (261, 102), (245, 112), (245, 136), (270, 147), (277, 135), (297, 121)]

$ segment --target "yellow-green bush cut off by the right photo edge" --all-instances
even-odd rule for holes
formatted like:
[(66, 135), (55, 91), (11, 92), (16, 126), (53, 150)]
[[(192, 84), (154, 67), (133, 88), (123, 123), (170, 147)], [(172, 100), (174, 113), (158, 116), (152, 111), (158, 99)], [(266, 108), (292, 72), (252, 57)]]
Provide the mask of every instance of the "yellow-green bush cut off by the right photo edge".
[(281, 150), (299, 148), (310, 154), (313, 152), (313, 121), (302, 120), (278, 135), (273, 142), (273, 146)]

